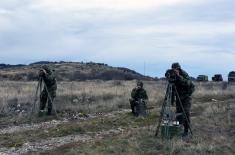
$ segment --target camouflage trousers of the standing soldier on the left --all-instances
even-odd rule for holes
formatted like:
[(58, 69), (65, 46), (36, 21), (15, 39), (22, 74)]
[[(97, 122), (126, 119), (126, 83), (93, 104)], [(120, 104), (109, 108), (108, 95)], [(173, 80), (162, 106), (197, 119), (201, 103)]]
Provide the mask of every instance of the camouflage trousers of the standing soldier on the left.
[(53, 101), (56, 97), (56, 90), (48, 90), (50, 97), (47, 93), (47, 90), (44, 88), (43, 91), (40, 94), (40, 110), (44, 110), (46, 108), (46, 104), (47, 105), (47, 114), (51, 114), (52, 111), (52, 106), (53, 106)]

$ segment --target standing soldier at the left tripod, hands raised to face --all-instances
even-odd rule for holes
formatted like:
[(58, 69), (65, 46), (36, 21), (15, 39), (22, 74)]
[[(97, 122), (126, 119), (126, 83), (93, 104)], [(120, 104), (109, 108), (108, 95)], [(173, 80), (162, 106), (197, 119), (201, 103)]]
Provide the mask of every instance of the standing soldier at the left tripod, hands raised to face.
[[(48, 103), (47, 115), (51, 115), (52, 104), (56, 97), (57, 82), (54, 75), (54, 72), (50, 69), (49, 66), (43, 65), (40, 72), (39, 78), (44, 81), (44, 88), (40, 94), (40, 112), (39, 116), (43, 113), (46, 103)], [(49, 94), (48, 94), (49, 93)]]

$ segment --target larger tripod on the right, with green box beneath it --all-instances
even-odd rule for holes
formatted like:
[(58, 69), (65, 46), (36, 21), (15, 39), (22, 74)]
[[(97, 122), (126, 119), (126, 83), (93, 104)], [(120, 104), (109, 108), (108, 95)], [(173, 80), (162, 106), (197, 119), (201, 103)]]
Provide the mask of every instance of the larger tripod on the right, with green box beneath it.
[[(171, 106), (174, 103), (174, 97), (176, 97), (176, 100), (178, 100), (180, 107), (182, 109), (182, 113), (179, 114), (175, 114), (173, 112), (173, 110), (171, 110)], [(157, 126), (157, 130), (155, 133), (155, 136), (158, 136), (159, 134), (159, 130), (160, 127), (164, 124), (164, 135), (166, 135), (166, 137), (169, 139), (170, 138), (170, 127), (172, 125), (179, 125), (179, 122), (177, 122), (176, 117), (183, 115), (183, 119), (186, 120), (186, 122), (188, 123), (189, 126), (189, 130), (191, 135), (193, 135), (190, 123), (189, 123), (189, 119), (186, 116), (186, 112), (185, 109), (183, 107), (182, 101), (180, 99), (179, 93), (175, 87), (174, 83), (168, 83), (167, 85), (167, 90), (166, 90), (166, 94), (165, 94), (165, 99), (164, 102), (162, 104), (162, 109), (161, 109), (161, 113), (160, 113), (160, 118), (159, 118), (159, 122), (158, 122), (158, 126)]]

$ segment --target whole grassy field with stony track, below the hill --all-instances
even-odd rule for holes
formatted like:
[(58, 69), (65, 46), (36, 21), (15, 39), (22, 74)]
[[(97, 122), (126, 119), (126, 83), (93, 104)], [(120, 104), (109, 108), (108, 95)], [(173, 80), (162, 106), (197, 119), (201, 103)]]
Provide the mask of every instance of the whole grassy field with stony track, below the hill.
[(195, 84), (194, 136), (168, 142), (154, 137), (164, 81), (144, 82), (147, 118), (135, 118), (127, 110), (136, 81), (59, 82), (55, 100), (59, 120), (35, 115), (33, 122), (28, 116), (37, 83), (1, 81), (0, 154), (235, 154), (235, 85)]

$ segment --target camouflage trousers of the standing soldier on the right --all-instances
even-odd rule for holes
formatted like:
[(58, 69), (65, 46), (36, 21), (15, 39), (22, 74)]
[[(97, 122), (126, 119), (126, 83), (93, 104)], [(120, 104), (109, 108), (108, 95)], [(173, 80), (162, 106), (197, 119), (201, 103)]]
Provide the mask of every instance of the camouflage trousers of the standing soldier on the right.
[(176, 113), (181, 113), (181, 115), (177, 116), (177, 120), (179, 121), (180, 124), (184, 126), (184, 132), (188, 133), (191, 123), (190, 109), (192, 104), (192, 98), (191, 96), (181, 96), (180, 100), (182, 106), (180, 104), (180, 101), (178, 99), (176, 100)]

